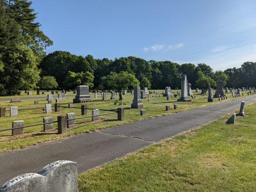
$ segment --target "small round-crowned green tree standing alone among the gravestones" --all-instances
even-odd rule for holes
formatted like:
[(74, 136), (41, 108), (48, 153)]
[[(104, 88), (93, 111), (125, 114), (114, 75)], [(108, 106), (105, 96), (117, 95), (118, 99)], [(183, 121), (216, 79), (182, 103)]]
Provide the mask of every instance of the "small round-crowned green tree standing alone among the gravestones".
[(110, 72), (108, 76), (101, 78), (103, 84), (110, 89), (116, 89), (119, 93), (119, 100), (122, 100), (122, 90), (132, 89), (139, 84), (134, 74), (129, 72)]

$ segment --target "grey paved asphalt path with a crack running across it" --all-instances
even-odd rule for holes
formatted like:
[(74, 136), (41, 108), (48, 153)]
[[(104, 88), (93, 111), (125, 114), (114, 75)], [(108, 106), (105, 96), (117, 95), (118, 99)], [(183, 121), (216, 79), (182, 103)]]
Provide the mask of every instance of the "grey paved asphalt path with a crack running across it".
[(61, 159), (77, 162), (78, 172), (81, 173), (180, 132), (219, 119), (239, 108), (242, 100), (246, 104), (253, 103), (256, 102), (256, 96), (2, 153), (0, 154), (0, 184), (19, 174), (38, 172), (47, 164)]

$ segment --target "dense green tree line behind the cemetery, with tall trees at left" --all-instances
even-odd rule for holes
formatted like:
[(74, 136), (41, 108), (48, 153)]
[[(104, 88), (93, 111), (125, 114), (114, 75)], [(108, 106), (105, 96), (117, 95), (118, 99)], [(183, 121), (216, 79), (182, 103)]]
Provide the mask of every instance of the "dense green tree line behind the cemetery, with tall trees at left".
[(122, 57), (115, 60), (77, 56), (67, 51), (46, 54), (53, 44), (35, 22), (37, 14), (27, 0), (0, 0), (0, 95), (31, 89), (75, 89), (85, 84), (95, 89), (132, 89), (134, 84), (152, 89), (181, 87), (186, 74), (192, 88), (256, 86), (256, 62), (240, 68), (213, 71), (205, 63), (178, 64), (166, 61)]

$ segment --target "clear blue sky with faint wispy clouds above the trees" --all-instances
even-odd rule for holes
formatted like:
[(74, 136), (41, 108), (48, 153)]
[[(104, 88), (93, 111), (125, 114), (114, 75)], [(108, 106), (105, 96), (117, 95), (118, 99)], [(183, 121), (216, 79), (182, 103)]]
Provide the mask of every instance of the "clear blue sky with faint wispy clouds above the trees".
[(32, 0), (41, 30), (76, 55), (206, 63), (256, 61), (256, 0)]

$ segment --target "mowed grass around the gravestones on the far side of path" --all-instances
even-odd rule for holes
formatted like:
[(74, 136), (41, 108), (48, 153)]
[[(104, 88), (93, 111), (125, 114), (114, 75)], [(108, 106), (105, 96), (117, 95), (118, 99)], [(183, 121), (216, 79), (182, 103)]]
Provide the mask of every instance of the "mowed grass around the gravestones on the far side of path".
[[(161, 93), (163, 90), (158, 90), (159, 93)], [(177, 90), (174, 90), (174, 92), (177, 92)], [(50, 93), (50, 92), (48, 92)], [(22, 94), (23, 96), (24, 93)], [(57, 94), (54, 96), (56, 97)], [(32, 96), (37, 96), (34, 92)], [(46, 96), (47, 95), (39, 95), (39, 96)], [(67, 99), (61, 100), (60, 103), (72, 103), (73, 98), (75, 94), (73, 92), (67, 93)], [(108, 93), (107, 97), (110, 99), (111, 94)], [(228, 100), (232, 100), (231, 94), (227, 94), (228, 99), (223, 101), (218, 101), (218, 99), (215, 99), (214, 103), (219, 102), (226, 102)], [(247, 96), (247, 92), (244, 93), (244, 96)], [(37, 96), (38, 97), (38, 96)], [(105, 129), (108, 127), (118, 126), (138, 120), (158, 117), (170, 113), (177, 113), (181, 111), (185, 111), (188, 109), (197, 108), (200, 106), (207, 106), (212, 105), (214, 103), (208, 103), (207, 102), (207, 96), (200, 96), (196, 95), (195, 99), (192, 99), (192, 102), (177, 102), (177, 98), (172, 97), (171, 100), (167, 101), (166, 97), (163, 97), (162, 95), (157, 94), (151, 94), (149, 99), (142, 99), (144, 109), (146, 109), (146, 116), (140, 116), (140, 109), (132, 109), (131, 103), (133, 100), (133, 95), (131, 93), (127, 93), (126, 95), (123, 95), (123, 104), (122, 105), (114, 105), (112, 100), (103, 101), (100, 94), (98, 94), (98, 98), (94, 98), (94, 94), (91, 94), (91, 97), (93, 98), (93, 102), (85, 103), (88, 108), (98, 108), (98, 109), (110, 109), (115, 110), (117, 108), (127, 108), (125, 109), (124, 116), (125, 119), (123, 121), (117, 120), (117, 114), (111, 114), (107, 116), (100, 116), (99, 120), (97, 121), (91, 121), (91, 118), (83, 119), (83, 120), (76, 120), (77, 124), (76, 126), (68, 129), (68, 132), (65, 134), (57, 134), (57, 123), (54, 123), (55, 130), (51, 132), (43, 132), (43, 126), (36, 126), (36, 127), (29, 127), (24, 128), (24, 134), (17, 135), (17, 136), (11, 136), (12, 131), (4, 131), (0, 132), (0, 153), (5, 151), (10, 151), (13, 149), (19, 149), (24, 148), (29, 145), (39, 144), (42, 142), (47, 142), (50, 140), (56, 140), (61, 139), (64, 137), (81, 134), (85, 132), (91, 132), (96, 131), (99, 129)], [(118, 96), (116, 96), (118, 98)], [(0, 97), (2, 98), (2, 97)], [(19, 109), (22, 108), (35, 108), (35, 107), (44, 107), (47, 103), (45, 98), (37, 98), (37, 99), (27, 99), (22, 100), (21, 103), (10, 103), (10, 100), (8, 101), (0, 101), (0, 105), (2, 107), (6, 107), (9, 110), (9, 105), (12, 106), (18, 106)], [(239, 97), (241, 98), (241, 97)], [(39, 105), (34, 105), (34, 100), (39, 101)], [(53, 103), (55, 102), (55, 99), (53, 100)], [(173, 109), (173, 104), (178, 104), (178, 109)], [(171, 111), (165, 111), (165, 106), (170, 105)], [(67, 104), (63, 105), (67, 106)], [(81, 104), (74, 104), (74, 107), (81, 107)], [(66, 113), (74, 112), (76, 117), (82, 117), (81, 116), (81, 109), (76, 108), (61, 108), (61, 111), (58, 113), (54, 112), (54, 108), (52, 114), (45, 114), (45, 112), (42, 109), (31, 109), (31, 110), (21, 110), (18, 111), (18, 117), (9, 117), (10, 112), (6, 112), (7, 117), (0, 118), (0, 130), (1, 129), (7, 129), (12, 127), (12, 121), (13, 120), (24, 120), (24, 125), (30, 125), (30, 124), (38, 124), (43, 122), (43, 117), (49, 117), (52, 116), (53, 120), (57, 120), (57, 116), (59, 115), (66, 115)], [(91, 110), (88, 109), (87, 116), (91, 115)], [(100, 111), (100, 113), (108, 113), (108, 111)]]

